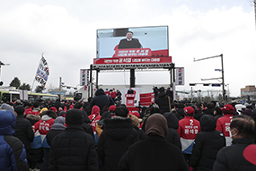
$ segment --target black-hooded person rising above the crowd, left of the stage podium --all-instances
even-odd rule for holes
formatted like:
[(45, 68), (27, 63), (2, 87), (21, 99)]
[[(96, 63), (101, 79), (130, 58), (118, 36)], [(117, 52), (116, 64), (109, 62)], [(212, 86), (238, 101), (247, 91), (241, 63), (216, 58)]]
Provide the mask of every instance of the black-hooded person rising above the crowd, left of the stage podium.
[(103, 107), (107, 106), (110, 107), (111, 105), (114, 105), (114, 101), (109, 96), (106, 96), (104, 90), (98, 89), (95, 92), (95, 97), (90, 102), (90, 106), (93, 108), (93, 106), (96, 105), (100, 107), (100, 115), (103, 113)]

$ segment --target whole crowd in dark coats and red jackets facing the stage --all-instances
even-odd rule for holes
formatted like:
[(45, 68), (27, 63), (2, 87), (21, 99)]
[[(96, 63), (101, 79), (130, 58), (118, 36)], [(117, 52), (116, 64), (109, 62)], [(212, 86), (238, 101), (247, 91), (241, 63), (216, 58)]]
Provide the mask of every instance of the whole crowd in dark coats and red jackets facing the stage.
[(2, 103), (0, 170), (256, 170), (255, 104), (238, 112), (173, 101), (160, 88), (135, 112), (106, 94)]

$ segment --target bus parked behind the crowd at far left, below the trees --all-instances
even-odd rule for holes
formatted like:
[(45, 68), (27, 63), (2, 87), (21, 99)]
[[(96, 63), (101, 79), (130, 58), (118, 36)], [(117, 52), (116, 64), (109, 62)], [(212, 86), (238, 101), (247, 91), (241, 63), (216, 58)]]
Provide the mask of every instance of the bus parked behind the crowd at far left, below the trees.
[[(28, 100), (31, 100), (31, 101), (38, 100), (38, 99), (42, 99), (45, 101), (55, 101), (57, 98), (58, 98), (57, 95), (28, 91)], [(15, 101), (17, 99), (21, 99), (20, 90), (0, 90), (0, 100), (7, 102), (7, 101)]]

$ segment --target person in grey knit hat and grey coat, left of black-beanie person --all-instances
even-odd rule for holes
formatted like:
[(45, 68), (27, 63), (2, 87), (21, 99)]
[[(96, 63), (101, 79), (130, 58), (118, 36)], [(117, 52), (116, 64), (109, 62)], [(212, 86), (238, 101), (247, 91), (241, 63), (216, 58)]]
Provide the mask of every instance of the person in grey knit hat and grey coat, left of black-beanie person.
[(54, 120), (54, 124), (51, 125), (49, 132), (46, 135), (47, 143), (51, 144), (51, 141), (59, 134), (63, 133), (66, 129), (65, 118), (63, 116), (57, 116)]

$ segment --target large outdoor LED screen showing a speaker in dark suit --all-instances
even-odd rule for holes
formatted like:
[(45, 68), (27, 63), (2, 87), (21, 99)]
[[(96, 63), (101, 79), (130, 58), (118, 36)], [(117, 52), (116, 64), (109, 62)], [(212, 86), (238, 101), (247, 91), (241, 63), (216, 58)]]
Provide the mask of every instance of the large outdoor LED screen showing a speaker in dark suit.
[(169, 56), (168, 26), (97, 30), (97, 58)]

